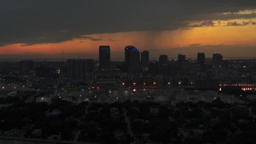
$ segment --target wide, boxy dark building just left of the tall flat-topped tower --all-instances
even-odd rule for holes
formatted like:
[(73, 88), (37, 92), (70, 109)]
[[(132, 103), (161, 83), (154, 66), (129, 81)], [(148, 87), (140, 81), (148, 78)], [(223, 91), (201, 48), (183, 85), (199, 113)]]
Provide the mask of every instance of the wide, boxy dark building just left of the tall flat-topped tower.
[(92, 59), (69, 59), (67, 60), (67, 76), (69, 78), (86, 78), (93, 71), (93, 67)]

